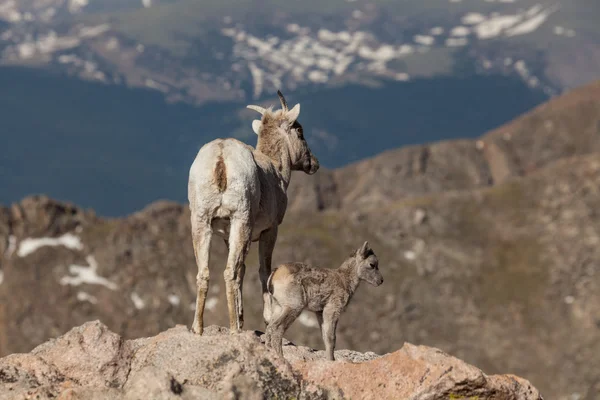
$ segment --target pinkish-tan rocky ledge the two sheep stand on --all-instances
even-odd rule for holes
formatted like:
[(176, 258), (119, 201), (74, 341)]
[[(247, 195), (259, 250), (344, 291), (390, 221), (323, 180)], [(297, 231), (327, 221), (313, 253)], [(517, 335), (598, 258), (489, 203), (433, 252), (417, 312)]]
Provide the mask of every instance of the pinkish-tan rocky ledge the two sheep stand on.
[(525, 379), (487, 376), (431, 347), (340, 350), (331, 362), (286, 341), (282, 360), (261, 335), (209, 326), (196, 336), (177, 325), (124, 340), (87, 322), (0, 359), (0, 399), (543, 399)]

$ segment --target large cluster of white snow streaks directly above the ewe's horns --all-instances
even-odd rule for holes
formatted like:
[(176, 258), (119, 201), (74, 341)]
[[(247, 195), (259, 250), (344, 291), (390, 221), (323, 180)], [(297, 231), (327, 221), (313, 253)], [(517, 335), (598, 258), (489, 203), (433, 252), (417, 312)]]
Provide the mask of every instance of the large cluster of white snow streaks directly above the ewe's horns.
[(254, 98), (268, 87), (278, 87), (285, 78), (290, 78), (290, 85), (303, 80), (325, 84), (333, 76), (353, 69), (406, 79), (405, 75), (397, 75), (399, 71), (388, 68), (387, 63), (415, 51), (426, 51), (428, 43), (435, 43), (429, 35), (415, 37), (421, 46), (413, 46), (377, 43), (371, 33), (363, 31), (318, 29), (311, 33), (310, 28), (298, 24), (288, 24), (286, 30), (292, 38), (259, 38), (237, 27), (221, 30), (234, 41), (236, 62), (231, 64), (232, 71), (239, 73), (244, 67), (250, 71)]

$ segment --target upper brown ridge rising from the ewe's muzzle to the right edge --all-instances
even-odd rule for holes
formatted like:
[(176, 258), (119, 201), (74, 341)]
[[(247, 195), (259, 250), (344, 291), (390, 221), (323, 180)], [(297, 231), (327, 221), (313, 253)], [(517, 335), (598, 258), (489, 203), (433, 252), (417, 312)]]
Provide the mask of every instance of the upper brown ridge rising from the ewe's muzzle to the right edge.
[(377, 208), (390, 201), (466, 190), (527, 175), (564, 157), (600, 151), (600, 81), (553, 98), (478, 140), (386, 151), (290, 186), (296, 210)]

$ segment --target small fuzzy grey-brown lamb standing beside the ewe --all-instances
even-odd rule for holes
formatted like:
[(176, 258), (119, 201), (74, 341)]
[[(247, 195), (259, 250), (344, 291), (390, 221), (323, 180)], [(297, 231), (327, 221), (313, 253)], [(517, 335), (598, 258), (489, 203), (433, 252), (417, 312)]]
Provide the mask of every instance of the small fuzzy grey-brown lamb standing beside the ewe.
[(267, 285), (281, 311), (267, 326), (265, 344), (283, 357), (283, 334), (302, 310), (309, 309), (317, 314), (327, 358), (335, 360), (333, 350), (338, 319), (361, 280), (373, 286), (383, 283), (378, 264), (377, 256), (365, 242), (338, 269), (312, 268), (303, 263), (288, 263), (276, 268)]

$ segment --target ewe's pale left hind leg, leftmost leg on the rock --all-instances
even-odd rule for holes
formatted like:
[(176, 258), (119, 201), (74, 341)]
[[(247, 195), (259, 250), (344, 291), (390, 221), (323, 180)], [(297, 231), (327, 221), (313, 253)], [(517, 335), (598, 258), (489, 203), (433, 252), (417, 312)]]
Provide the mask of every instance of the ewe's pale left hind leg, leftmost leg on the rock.
[(208, 263), (210, 261), (212, 228), (209, 222), (193, 214), (191, 223), (194, 256), (198, 265), (198, 275), (196, 276), (196, 311), (194, 313), (194, 322), (192, 323), (192, 332), (202, 335), (204, 330), (204, 303), (206, 302), (206, 293), (208, 292)]

